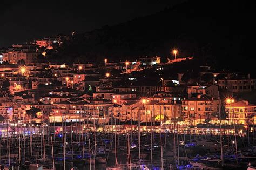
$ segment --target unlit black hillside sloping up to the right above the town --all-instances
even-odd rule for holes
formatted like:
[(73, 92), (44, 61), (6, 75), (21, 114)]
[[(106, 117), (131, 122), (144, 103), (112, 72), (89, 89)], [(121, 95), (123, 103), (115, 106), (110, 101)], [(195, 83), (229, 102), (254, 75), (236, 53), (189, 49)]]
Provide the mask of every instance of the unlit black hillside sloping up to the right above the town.
[[(143, 18), (75, 35), (52, 57), (66, 62), (170, 55), (198, 58), (216, 69), (252, 72), (255, 1), (186, 1)], [(62, 57), (65, 56), (65, 57)]]

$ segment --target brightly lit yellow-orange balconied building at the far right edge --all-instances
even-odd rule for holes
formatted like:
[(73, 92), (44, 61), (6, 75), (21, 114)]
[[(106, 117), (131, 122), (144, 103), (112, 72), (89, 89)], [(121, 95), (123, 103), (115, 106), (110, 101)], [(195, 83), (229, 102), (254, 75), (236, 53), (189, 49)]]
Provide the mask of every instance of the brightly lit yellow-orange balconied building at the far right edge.
[(230, 123), (252, 124), (256, 113), (256, 105), (250, 104), (248, 100), (241, 100), (235, 103), (226, 104), (225, 111)]

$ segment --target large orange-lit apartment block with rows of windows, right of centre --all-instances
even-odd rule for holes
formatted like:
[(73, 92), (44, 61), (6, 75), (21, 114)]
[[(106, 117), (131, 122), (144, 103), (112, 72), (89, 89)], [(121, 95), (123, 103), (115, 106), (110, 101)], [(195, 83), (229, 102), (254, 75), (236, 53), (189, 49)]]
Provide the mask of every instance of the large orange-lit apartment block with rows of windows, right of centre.
[(185, 99), (182, 101), (183, 119), (190, 125), (218, 121), (218, 107), (218, 99), (206, 94)]

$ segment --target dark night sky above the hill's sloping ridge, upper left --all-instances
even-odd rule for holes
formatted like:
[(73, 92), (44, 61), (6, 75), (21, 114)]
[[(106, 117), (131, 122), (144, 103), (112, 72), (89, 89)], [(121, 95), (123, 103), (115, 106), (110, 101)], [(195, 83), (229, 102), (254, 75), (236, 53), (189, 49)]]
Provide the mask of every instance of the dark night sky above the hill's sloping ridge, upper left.
[(1, 1), (0, 47), (58, 33), (83, 33), (150, 15), (183, 1), (70, 2)]

